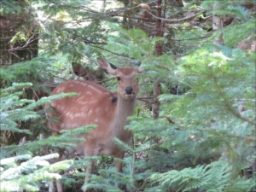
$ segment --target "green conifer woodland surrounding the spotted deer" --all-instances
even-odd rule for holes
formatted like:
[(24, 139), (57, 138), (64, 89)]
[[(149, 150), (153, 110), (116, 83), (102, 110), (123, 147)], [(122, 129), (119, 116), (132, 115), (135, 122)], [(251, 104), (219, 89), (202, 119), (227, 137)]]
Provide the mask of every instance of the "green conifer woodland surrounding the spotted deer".
[(127, 126), (133, 145), (115, 141), (125, 171), (92, 157), (91, 191), (256, 191), (255, 10), (248, 0), (1, 0), (1, 191), (47, 191), (61, 170), (65, 190), (84, 187), (90, 157), (51, 160), (88, 127), (42, 139), (42, 105), (78, 79), (75, 64), (116, 90), (97, 57), (147, 73)]

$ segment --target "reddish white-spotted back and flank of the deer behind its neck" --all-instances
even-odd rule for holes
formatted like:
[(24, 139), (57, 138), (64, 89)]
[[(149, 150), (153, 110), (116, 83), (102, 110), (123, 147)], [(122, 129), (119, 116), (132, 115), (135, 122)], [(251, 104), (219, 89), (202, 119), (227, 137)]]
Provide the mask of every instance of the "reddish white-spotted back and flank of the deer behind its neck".
[[(50, 125), (54, 131), (73, 129), (82, 125), (98, 125), (108, 129), (117, 107), (117, 94), (99, 84), (83, 80), (69, 80), (60, 84), (52, 95), (76, 92), (77, 96), (65, 97), (51, 102), (59, 116), (59, 123)], [(105, 125), (105, 126), (103, 126)]]

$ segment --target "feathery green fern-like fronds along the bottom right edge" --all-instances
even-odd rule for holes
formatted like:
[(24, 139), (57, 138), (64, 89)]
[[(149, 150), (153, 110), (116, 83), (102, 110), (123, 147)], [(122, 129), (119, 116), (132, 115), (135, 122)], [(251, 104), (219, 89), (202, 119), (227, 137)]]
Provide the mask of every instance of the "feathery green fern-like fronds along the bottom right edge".
[[(233, 186), (229, 166), (225, 161), (216, 161), (207, 166), (184, 168), (182, 171), (172, 170), (165, 173), (155, 173), (150, 177), (153, 182), (160, 183), (161, 191), (175, 189), (175, 191), (230, 191)], [(255, 187), (253, 179), (236, 178), (236, 182), (243, 186), (241, 191), (249, 191)], [(155, 188), (154, 188), (155, 189)], [(238, 188), (233, 188), (237, 191)]]

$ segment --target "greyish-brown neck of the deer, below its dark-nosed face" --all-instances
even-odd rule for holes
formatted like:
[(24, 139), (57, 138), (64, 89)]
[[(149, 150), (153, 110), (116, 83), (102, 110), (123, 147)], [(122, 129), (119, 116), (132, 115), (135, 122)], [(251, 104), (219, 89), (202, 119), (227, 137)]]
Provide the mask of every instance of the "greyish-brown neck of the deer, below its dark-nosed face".
[(131, 116), (134, 113), (134, 107), (135, 99), (125, 100), (121, 96), (118, 96), (118, 103), (113, 121), (114, 137), (117, 137), (123, 141), (130, 140), (131, 131), (124, 130), (124, 127), (125, 125), (129, 124), (129, 120), (127, 120), (127, 117)]

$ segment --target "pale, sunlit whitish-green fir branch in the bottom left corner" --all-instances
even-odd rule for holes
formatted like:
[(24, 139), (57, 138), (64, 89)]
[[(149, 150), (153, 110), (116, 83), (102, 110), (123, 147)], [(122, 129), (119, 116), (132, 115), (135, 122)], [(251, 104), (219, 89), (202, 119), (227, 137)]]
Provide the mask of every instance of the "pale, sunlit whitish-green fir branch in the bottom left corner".
[[(1, 160), (1, 191), (38, 191), (39, 181), (61, 178), (55, 172), (66, 170), (73, 161), (65, 160), (51, 165), (47, 161), (58, 157), (59, 154), (48, 154), (32, 158), (30, 154), (24, 154)], [(20, 160), (24, 162), (18, 163)]]

